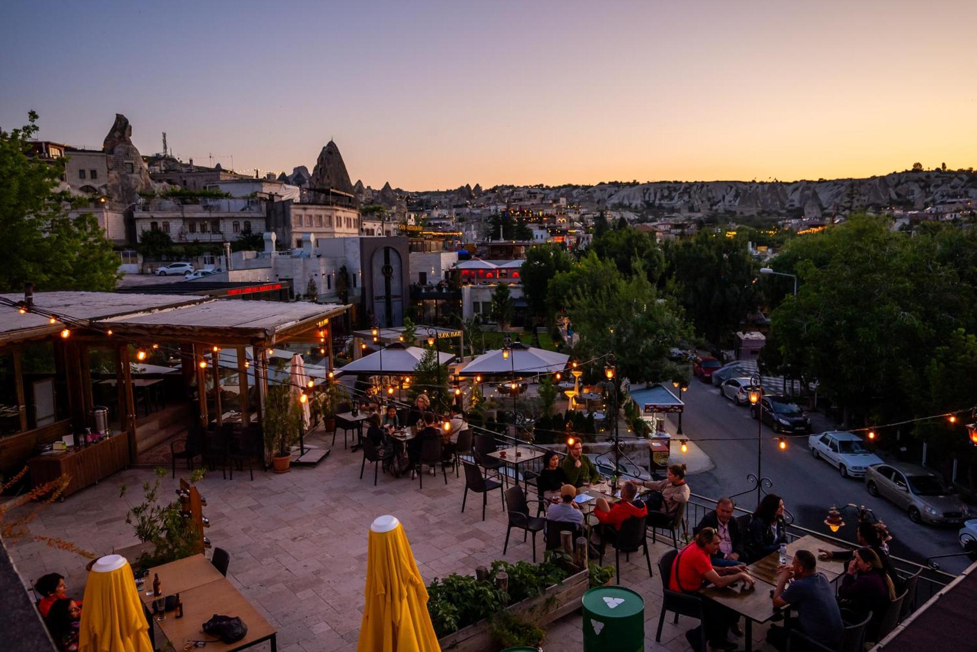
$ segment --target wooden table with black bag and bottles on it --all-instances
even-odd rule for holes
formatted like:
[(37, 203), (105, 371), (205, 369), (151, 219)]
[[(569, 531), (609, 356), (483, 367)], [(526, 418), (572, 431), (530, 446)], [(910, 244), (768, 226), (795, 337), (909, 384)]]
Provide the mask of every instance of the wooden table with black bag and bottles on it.
[[(183, 618), (178, 619), (175, 611), (169, 612), (162, 622), (152, 617), (152, 622), (159, 626), (176, 650), (182, 650), (184, 643), (190, 640), (206, 640), (206, 649), (211, 652), (234, 652), (270, 640), (272, 652), (277, 651), (276, 629), (204, 555), (194, 554), (150, 568), (146, 583), (150, 588), (153, 574), (159, 575), (164, 594), (179, 592), (183, 601)], [(152, 596), (146, 595), (146, 591), (140, 591), (140, 597), (147, 605), (152, 602)], [(200, 626), (217, 613), (240, 617), (247, 626), (247, 635), (234, 643), (223, 643), (203, 633)]]

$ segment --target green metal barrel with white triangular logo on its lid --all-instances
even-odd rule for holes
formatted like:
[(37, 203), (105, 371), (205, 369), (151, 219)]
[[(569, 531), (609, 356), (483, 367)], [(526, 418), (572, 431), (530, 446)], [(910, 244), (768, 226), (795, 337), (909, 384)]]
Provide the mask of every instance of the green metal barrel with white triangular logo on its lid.
[(597, 587), (583, 594), (583, 652), (642, 652), (645, 599), (622, 587)]

